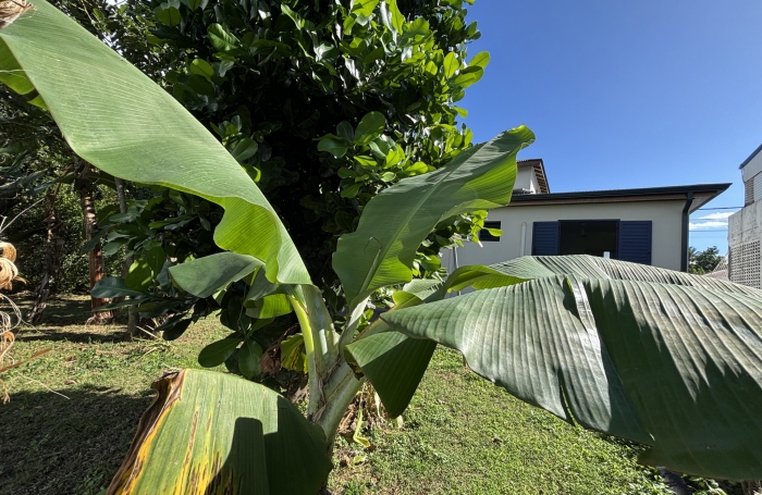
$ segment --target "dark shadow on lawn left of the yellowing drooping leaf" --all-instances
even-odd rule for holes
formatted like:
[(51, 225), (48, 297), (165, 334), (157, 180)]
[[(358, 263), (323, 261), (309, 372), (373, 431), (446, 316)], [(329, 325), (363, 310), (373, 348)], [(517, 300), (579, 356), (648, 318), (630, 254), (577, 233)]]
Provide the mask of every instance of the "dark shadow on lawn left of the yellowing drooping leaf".
[(0, 405), (0, 495), (96, 495), (126, 454), (152, 391), (16, 393)]

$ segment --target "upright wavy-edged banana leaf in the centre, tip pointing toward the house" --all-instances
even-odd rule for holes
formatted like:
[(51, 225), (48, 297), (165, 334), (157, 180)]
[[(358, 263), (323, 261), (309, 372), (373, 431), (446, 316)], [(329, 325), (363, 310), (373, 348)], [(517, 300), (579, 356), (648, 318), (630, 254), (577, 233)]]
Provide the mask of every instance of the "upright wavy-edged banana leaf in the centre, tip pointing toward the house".
[(409, 282), (416, 250), (443, 219), (507, 205), (516, 153), (533, 139), (525, 126), (506, 131), (442, 169), (400, 181), (376, 196), (357, 230), (339, 238), (333, 255), (352, 306), (377, 288)]

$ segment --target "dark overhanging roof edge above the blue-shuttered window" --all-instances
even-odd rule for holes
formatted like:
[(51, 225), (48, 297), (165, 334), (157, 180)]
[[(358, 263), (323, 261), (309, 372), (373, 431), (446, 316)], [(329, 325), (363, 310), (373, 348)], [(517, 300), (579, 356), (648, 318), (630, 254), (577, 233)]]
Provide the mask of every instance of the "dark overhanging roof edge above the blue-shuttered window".
[(690, 212), (699, 209), (730, 187), (724, 184), (693, 184), (687, 186), (643, 187), (638, 189), (583, 190), (577, 193), (553, 193), (514, 196), (509, 206), (568, 205), (583, 202), (624, 202), (685, 200), (693, 194)]

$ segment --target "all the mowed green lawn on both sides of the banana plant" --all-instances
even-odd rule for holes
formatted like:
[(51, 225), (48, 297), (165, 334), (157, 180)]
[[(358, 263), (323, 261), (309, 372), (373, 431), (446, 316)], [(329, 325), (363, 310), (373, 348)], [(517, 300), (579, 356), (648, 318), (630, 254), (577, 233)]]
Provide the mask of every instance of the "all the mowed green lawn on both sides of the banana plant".
[[(197, 368), (206, 344), (228, 335), (214, 319), (173, 343), (133, 339), (123, 325), (84, 325), (89, 301), (51, 302), (23, 330), (0, 405), (0, 495), (99, 494), (119, 468), (150, 383)], [(60, 395), (59, 395), (60, 394)], [(63, 397), (63, 396), (65, 397)], [(402, 428), (374, 421), (365, 449), (340, 437), (334, 494), (666, 494), (638, 449), (570, 426), (520, 403), (438, 350)]]

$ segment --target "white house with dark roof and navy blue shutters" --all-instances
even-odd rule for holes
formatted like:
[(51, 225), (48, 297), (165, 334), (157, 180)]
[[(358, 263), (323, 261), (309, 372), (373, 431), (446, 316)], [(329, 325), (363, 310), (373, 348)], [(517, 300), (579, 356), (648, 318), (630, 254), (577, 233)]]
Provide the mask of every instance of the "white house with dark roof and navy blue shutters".
[(729, 186), (551, 193), (542, 160), (519, 160), (511, 205), (491, 210), (486, 223), (503, 234), (481, 231), (483, 247), (465, 243), (445, 251), (442, 265), (452, 271), (525, 255), (593, 255), (687, 271), (688, 216)]

